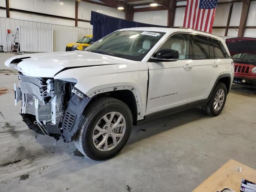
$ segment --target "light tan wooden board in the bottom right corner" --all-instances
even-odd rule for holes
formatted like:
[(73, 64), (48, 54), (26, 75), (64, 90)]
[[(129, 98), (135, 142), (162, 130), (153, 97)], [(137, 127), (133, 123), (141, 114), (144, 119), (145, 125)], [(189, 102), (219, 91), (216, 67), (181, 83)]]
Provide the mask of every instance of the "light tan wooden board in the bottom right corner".
[[(237, 171), (238, 167), (242, 167), (242, 172)], [(240, 192), (242, 179), (256, 182), (256, 170), (231, 159), (202, 182), (193, 192), (216, 192), (225, 187)]]

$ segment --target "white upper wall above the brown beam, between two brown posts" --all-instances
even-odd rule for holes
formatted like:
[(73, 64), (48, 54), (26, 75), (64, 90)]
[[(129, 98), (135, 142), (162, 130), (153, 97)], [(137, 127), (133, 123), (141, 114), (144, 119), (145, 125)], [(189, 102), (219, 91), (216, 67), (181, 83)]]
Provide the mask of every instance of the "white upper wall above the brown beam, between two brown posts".
[(75, 0), (9, 0), (9, 6), (16, 9), (75, 18)]

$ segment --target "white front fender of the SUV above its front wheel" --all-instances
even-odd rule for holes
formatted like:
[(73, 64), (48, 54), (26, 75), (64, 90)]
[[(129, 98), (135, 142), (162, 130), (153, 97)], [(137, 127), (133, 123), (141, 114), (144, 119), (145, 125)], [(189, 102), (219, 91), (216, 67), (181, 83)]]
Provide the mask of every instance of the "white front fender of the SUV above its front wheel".
[(137, 102), (138, 120), (144, 118), (146, 112), (146, 94), (148, 82), (148, 66), (146, 62), (128, 64), (107, 64), (64, 70), (54, 79), (75, 78), (75, 88), (88, 98), (97, 94), (115, 90), (130, 90)]

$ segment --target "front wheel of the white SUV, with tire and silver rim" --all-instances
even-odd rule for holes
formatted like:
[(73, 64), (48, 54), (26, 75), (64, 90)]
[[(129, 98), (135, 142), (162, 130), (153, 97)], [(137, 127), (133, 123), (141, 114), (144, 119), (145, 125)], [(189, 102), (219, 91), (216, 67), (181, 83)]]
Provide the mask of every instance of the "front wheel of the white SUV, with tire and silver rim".
[(104, 97), (94, 101), (80, 118), (74, 139), (78, 150), (92, 160), (115, 156), (132, 131), (132, 113), (122, 101)]

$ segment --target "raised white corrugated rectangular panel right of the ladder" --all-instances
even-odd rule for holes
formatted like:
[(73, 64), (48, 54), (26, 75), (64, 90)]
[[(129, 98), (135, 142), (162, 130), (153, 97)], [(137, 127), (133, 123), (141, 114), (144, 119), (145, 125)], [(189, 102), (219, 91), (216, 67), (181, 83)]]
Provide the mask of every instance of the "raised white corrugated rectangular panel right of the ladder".
[(20, 26), (20, 50), (53, 52), (53, 29)]

